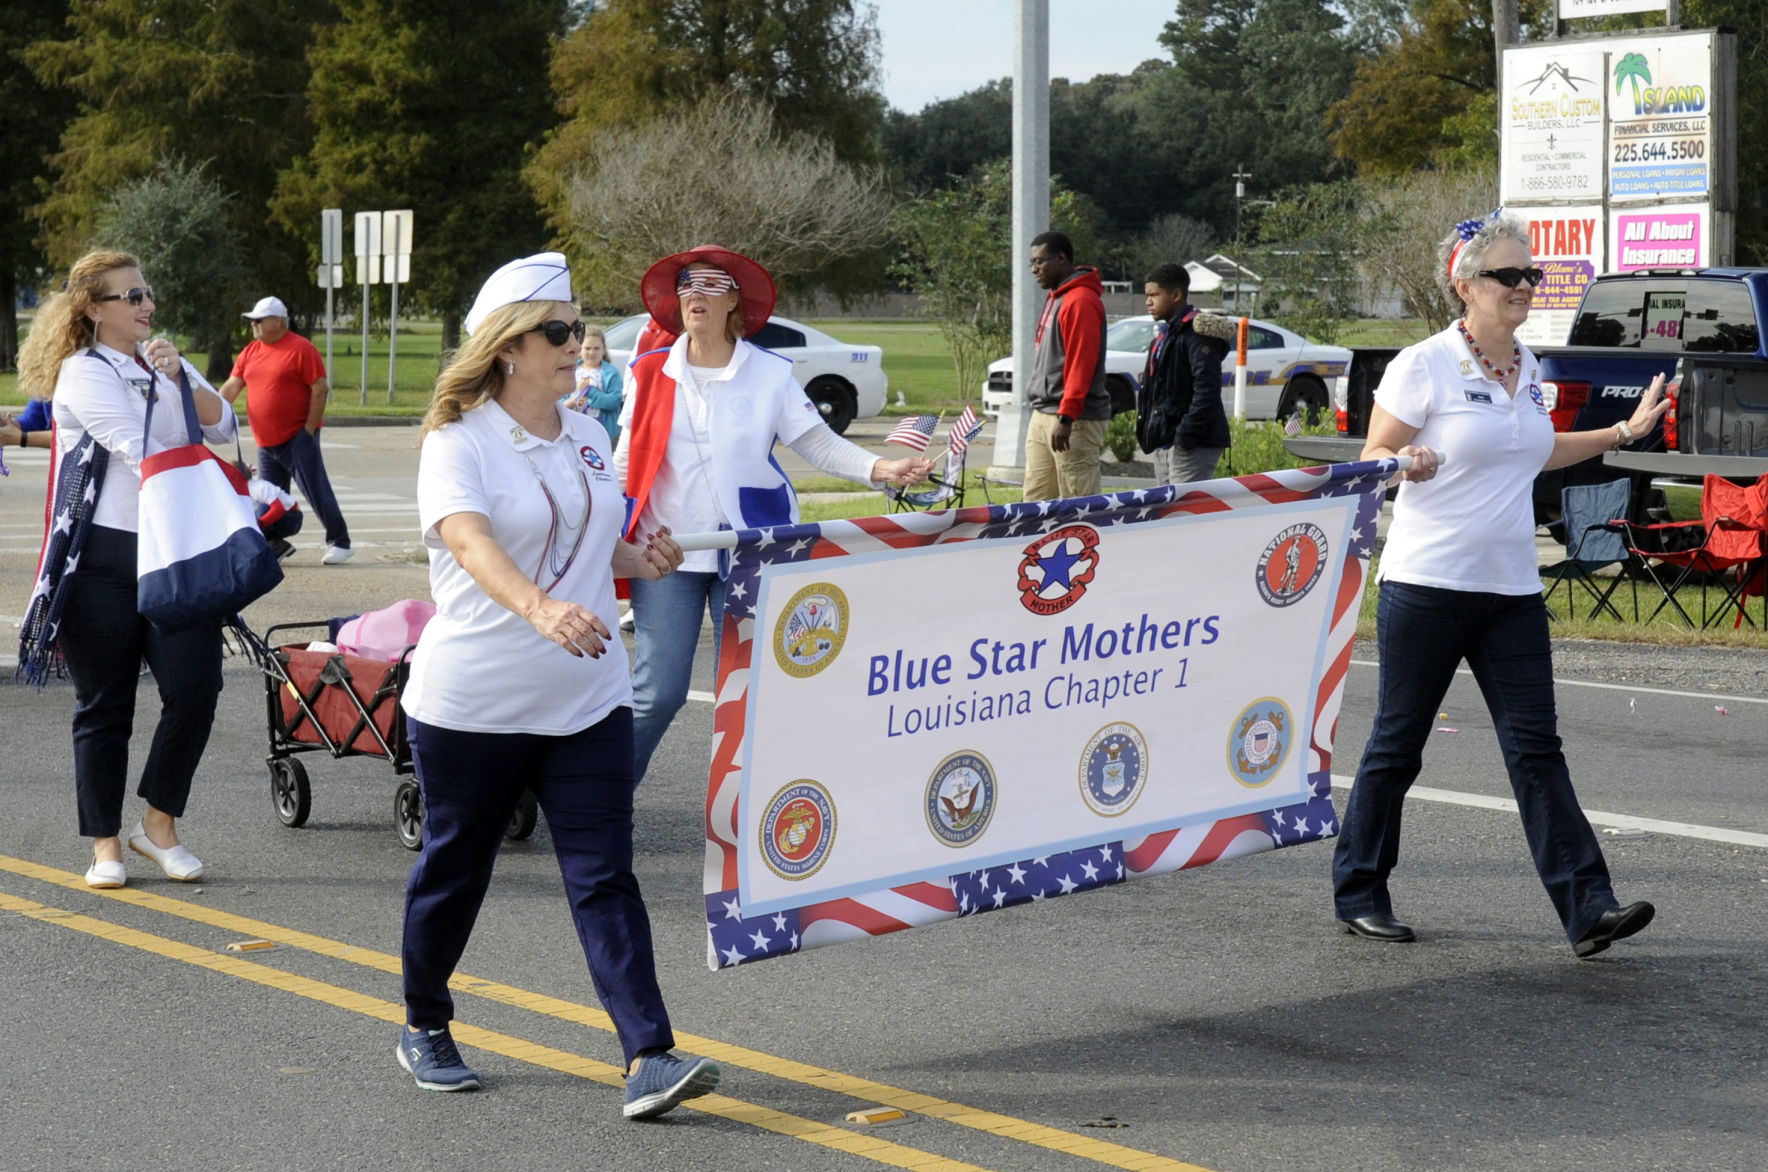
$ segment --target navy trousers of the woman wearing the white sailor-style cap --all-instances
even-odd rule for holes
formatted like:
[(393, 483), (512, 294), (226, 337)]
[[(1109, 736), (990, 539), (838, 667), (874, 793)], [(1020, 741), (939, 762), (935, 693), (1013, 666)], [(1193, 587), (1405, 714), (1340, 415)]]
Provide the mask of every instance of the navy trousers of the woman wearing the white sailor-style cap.
[(407, 721), (424, 792), (424, 849), (405, 889), (405, 1008), (412, 1029), (454, 1016), (447, 981), (467, 951), (504, 827), (532, 788), (546, 813), (589, 974), (628, 1064), (675, 1045), (633, 875), (633, 711), (553, 737)]

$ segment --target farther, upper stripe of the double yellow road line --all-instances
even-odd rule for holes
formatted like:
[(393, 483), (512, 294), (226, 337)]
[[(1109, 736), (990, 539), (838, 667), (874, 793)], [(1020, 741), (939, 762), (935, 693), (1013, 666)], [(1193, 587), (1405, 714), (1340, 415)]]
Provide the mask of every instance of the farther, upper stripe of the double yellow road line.
[[(187, 903), (184, 900), (173, 900), (150, 891), (138, 891), (134, 887), (94, 891), (85, 886), (83, 877), (74, 875), (72, 871), (58, 871), (55, 868), (42, 866), (41, 863), (14, 859), (9, 856), (0, 856), (0, 870), (12, 871), (27, 879), (37, 879), (46, 884), (55, 884), (58, 887), (67, 887), (69, 891), (134, 903), (136, 907), (168, 916), (193, 919), (196, 923), (226, 928), (242, 935), (262, 937), (265, 940), (274, 940), (276, 944), (299, 947), (370, 969), (380, 969), (382, 972), (391, 972), (394, 976), (400, 974), (398, 956), (377, 953), (366, 947), (355, 947), (339, 940), (329, 940), (325, 937), (297, 932), (293, 928), (283, 928), (262, 919), (249, 919), (246, 916), (235, 916), (232, 912)], [(562, 1001), (546, 993), (536, 993), (513, 985), (486, 981), (460, 972), (456, 972), (449, 981), (449, 988), (460, 993), (472, 993), (476, 997), (484, 997), (486, 1001), (585, 1025), (589, 1029), (613, 1032), (613, 1022), (606, 1013), (573, 1001)], [(849, 1094), (852, 1098), (865, 1100), (866, 1103), (898, 1107), (932, 1119), (944, 1119), (946, 1123), (960, 1128), (972, 1128), (976, 1131), (987, 1131), (990, 1135), (1018, 1140), (1034, 1147), (1068, 1153), (1070, 1156), (1091, 1160), (1093, 1163), (1101, 1163), (1112, 1168), (1132, 1168), (1135, 1172), (1209, 1172), (1200, 1165), (1185, 1163), (1183, 1160), (1172, 1160), (1169, 1156), (1160, 1156), (1137, 1147), (1126, 1147), (1123, 1144), (1110, 1144), (1107, 1140), (1094, 1140), (1086, 1135), (1075, 1135), (1073, 1131), (1063, 1131), (1061, 1128), (1050, 1128), (1041, 1123), (1031, 1123), (1027, 1119), (1015, 1119), (1013, 1115), (1001, 1115), (997, 1112), (965, 1107), (964, 1103), (953, 1103), (949, 1100), (934, 1098), (918, 1091), (907, 1091), (903, 1087), (893, 1087), (870, 1078), (843, 1075), (840, 1071), (824, 1069), (808, 1062), (797, 1062), (773, 1054), (764, 1054), (760, 1050), (750, 1050), (748, 1046), (718, 1041), (716, 1038), (677, 1032), (675, 1039), (684, 1048), (693, 1050), (695, 1054), (704, 1054), (705, 1057), (727, 1066), (753, 1069), (787, 1082)]]

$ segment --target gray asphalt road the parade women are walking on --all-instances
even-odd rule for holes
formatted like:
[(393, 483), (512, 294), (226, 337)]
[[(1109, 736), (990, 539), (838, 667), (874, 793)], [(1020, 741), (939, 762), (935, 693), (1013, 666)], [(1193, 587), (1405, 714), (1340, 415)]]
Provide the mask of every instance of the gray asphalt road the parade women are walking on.
[[(412, 440), (329, 433), (359, 553), (320, 567), (304, 534), (255, 626), (424, 592)], [(21, 608), (41, 525), (41, 465), (12, 465), (0, 615)], [(230, 659), (186, 820), (210, 877), (171, 884), (131, 856), (127, 889), (92, 893), (71, 689), (0, 684), (0, 1168), (1761, 1168), (1761, 656), (1572, 651), (1559, 704), (1579, 794), (1600, 831), (1625, 831), (1602, 836), (1621, 898), (1658, 905), (1593, 962), (1533, 877), (1462, 677), (1443, 721), (1457, 732), (1434, 739), (1407, 804), (1395, 898), (1414, 946), (1333, 930), (1315, 843), (714, 974), (711, 705), (690, 704), (640, 790), (638, 877), (681, 1045), (718, 1057), (725, 1084), (656, 1124), (619, 1117), (619, 1046), (545, 822), (504, 850), (458, 979), (486, 1091), (426, 1094), (392, 1055), (412, 856), (391, 769), (309, 758), (313, 817), (279, 826), (262, 679)], [(1349, 677), (1340, 790), (1368, 732), (1370, 658), (1360, 647)], [(274, 947), (225, 951), (246, 939)], [(886, 1103), (909, 1117), (843, 1119)]]

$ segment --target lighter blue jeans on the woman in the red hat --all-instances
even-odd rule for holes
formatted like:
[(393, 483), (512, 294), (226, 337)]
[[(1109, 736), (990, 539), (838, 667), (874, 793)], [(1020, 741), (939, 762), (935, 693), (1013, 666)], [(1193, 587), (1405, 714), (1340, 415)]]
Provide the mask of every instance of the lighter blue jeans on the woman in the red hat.
[(633, 776), (645, 780), (651, 755), (688, 698), (700, 629), (713, 613), (713, 661), (725, 622), (725, 580), (714, 573), (682, 571), (661, 582), (633, 578)]

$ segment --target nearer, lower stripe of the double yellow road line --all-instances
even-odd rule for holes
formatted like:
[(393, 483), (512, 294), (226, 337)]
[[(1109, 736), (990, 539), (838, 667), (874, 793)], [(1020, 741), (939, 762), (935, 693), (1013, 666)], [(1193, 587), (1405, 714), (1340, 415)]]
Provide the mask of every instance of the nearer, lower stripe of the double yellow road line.
[[(126, 947), (154, 953), (156, 956), (164, 956), (168, 960), (180, 960), (187, 965), (209, 969), (240, 981), (251, 981), (285, 993), (295, 993), (297, 997), (361, 1013), (362, 1016), (377, 1018), (380, 1022), (398, 1024), (405, 1020), (405, 1006), (391, 1001), (368, 997), (339, 985), (327, 985), (325, 981), (293, 976), (290, 972), (283, 972), (281, 969), (271, 969), (251, 960), (239, 960), (237, 956), (212, 953), (193, 944), (184, 944), (182, 940), (150, 935), (147, 932), (138, 932), (136, 928), (124, 928), (106, 919), (94, 919), (92, 916), (81, 916), (60, 907), (48, 907), (5, 891), (0, 891), (0, 910), (18, 912), (19, 916), (55, 925), (58, 928), (83, 932), (101, 940), (110, 940), (111, 944), (122, 944)], [(621, 1078), (619, 1066), (598, 1062), (596, 1059), (587, 1059), (580, 1054), (555, 1050), (536, 1041), (499, 1034), (495, 1031), (467, 1025), (463, 1022), (454, 1022), (453, 1032), (456, 1041), (477, 1046), (479, 1050), (490, 1050), (520, 1062), (545, 1066), (546, 1069), (576, 1075), (578, 1078), (601, 1082), (610, 1087), (626, 1085)], [(918, 1147), (891, 1144), (889, 1140), (880, 1140), (872, 1135), (859, 1135), (845, 1128), (834, 1128), (801, 1115), (789, 1115), (758, 1103), (744, 1103), (743, 1100), (734, 1100), (723, 1094), (705, 1094), (682, 1103), (682, 1107), (707, 1115), (730, 1119), (732, 1123), (743, 1123), (762, 1131), (773, 1131), (776, 1135), (804, 1140), (806, 1144), (817, 1144), (819, 1147), (831, 1147), (850, 1156), (863, 1156), (896, 1168), (916, 1168), (916, 1172), (987, 1172), (987, 1168), (974, 1163), (948, 1160)]]

